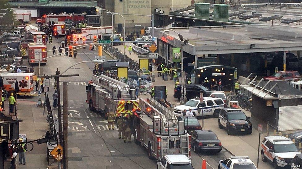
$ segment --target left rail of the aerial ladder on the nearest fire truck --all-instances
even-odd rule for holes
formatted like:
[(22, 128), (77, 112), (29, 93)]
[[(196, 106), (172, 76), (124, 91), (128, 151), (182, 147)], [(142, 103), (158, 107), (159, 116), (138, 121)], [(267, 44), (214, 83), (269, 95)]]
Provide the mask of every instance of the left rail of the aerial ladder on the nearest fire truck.
[[(162, 122), (164, 122), (164, 128), (166, 127), (166, 116), (158, 111), (155, 107), (151, 106), (146, 100), (139, 98), (140, 101), (138, 106), (146, 115), (148, 115), (151, 119), (154, 119), (154, 116), (158, 116)], [(148, 110), (150, 109), (150, 110)]]

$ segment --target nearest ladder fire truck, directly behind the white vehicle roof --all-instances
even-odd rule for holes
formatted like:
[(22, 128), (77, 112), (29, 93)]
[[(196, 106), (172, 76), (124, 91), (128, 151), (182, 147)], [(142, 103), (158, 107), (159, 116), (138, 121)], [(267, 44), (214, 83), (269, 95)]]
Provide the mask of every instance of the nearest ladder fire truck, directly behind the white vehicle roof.
[(171, 154), (191, 159), (191, 135), (184, 129), (184, 121), (152, 98), (140, 98), (139, 107), (134, 112), (133, 134), (135, 143), (147, 149), (149, 159)]

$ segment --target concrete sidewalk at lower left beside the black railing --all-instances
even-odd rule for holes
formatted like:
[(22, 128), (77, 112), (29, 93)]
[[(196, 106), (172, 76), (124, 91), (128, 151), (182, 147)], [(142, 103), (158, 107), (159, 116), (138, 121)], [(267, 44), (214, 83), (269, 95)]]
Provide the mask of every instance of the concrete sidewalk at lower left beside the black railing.
[[(8, 102), (5, 101), (4, 114), (8, 114)], [(17, 99), (17, 117), (23, 121), (19, 123), (19, 133), (26, 134), (27, 140), (36, 140), (44, 137), (49, 130), (46, 121), (47, 110), (43, 116), (43, 108), (37, 107), (37, 97), (31, 99)], [(13, 116), (15, 119), (15, 116)], [(26, 165), (19, 165), (19, 155), (17, 156), (17, 167), (28, 169), (46, 168), (46, 144), (37, 145), (33, 143), (33, 150), (25, 152)], [(9, 160), (9, 159), (7, 159)], [(9, 168), (10, 161), (4, 163), (4, 168)]]

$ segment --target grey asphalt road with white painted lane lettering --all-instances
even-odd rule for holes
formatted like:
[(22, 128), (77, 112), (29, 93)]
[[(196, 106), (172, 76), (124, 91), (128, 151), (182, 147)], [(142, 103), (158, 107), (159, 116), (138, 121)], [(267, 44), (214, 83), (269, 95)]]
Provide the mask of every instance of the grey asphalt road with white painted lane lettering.
[[(51, 49), (60, 45), (60, 39), (48, 45)], [(48, 59), (43, 66), (44, 74), (55, 74), (58, 68), (61, 72), (67, 67), (86, 60), (94, 60), (97, 51), (88, 48), (78, 50), (77, 58), (57, 56)], [(51, 54), (48, 53), (48, 56)], [(86, 85), (92, 77), (93, 63), (79, 64), (65, 74), (79, 74), (78, 77), (61, 78), (68, 82), (68, 165), (69, 168), (156, 168), (156, 160), (150, 160), (144, 147), (131, 143), (123, 143), (118, 139), (117, 129), (108, 130), (108, 122), (98, 113), (91, 112), (85, 103), (87, 94)], [(50, 99), (54, 92), (54, 79), (51, 79)], [(61, 96), (62, 96), (62, 86)], [(44, 98), (44, 97), (43, 97)], [(62, 101), (61, 101), (62, 102)], [(56, 111), (56, 110), (55, 110)], [(57, 117), (57, 114), (54, 115)], [(133, 139), (133, 136), (132, 136)], [(207, 168), (217, 168), (218, 161), (226, 159), (231, 154), (222, 150), (212, 155), (206, 153), (195, 154), (191, 151), (192, 164), (201, 168), (202, 159), (208, 163)]]

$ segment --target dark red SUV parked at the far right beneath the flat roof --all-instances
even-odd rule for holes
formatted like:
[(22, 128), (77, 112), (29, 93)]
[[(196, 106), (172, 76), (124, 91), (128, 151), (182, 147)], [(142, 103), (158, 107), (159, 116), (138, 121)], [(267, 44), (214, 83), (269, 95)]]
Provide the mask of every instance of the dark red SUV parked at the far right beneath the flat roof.
[(294, 78), (300, 78), (300, 74), (297, 71), (278, 71), (274, 73), (272, 76), (264, 77), (265, 80), (273, 80), (273, 81), (291, 81)]

